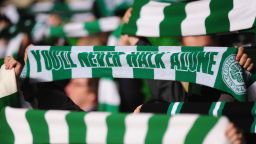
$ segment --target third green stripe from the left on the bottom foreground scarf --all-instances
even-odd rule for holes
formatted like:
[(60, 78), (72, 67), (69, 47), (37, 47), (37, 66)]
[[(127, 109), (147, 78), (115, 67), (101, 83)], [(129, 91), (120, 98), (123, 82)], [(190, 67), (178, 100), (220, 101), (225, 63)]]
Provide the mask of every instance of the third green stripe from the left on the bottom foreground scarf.
[(69, 143), (85, 143), (86, 125), (84, 122), (85, 113), (71, 112), (67, 114), (66, 121), (69, 128)]

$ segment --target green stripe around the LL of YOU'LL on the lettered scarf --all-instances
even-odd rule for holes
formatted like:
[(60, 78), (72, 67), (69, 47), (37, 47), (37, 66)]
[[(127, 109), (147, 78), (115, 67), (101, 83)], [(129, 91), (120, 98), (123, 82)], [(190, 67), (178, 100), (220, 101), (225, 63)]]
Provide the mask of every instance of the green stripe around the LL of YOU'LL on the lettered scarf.
[[(71, 46), (51, 46), (50, 52), (51, 51), (71, 51)], [(54, 62), (54, 59), (51, 59)], [(64, 63), (67, 64), (67, 61), (64, 61)], [(71, 69), (64, 69), (64, 63), (62, 63), (62, 67), (59, 70), (52, 70), (52, 78), (53, 80), (63, 80), (63, 79), (70, 79), (72, 78), (72, 70)]]

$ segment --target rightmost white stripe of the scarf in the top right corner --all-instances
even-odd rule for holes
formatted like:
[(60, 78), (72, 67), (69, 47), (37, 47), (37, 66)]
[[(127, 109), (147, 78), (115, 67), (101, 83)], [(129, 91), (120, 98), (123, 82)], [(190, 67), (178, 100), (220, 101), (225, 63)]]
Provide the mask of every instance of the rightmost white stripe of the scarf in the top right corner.
[(233, 9), (229, 12), (230, 31), (251, 28), (256, 16), (255, 0), (233, 0)]

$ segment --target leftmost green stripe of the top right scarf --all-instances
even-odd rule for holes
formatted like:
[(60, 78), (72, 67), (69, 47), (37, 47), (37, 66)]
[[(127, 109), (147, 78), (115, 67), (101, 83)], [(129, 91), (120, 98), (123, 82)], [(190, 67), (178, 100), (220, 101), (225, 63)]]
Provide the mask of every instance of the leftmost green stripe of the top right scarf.
[(124, 29), (123, 29), (124, 33), (131, 34), (131, 35), (136, 34), (137, 29), (138, 29), (136, 22), (140, 17), (140, 10), (145, 4), (147, 4), (149, 2), (150, 2), (150, 0), (136, 0), (136, 1), (134, 1), (133, 7), (132, 7), (133, 8), (132, 16), (129, 20), (129, 23), (124, 25)]

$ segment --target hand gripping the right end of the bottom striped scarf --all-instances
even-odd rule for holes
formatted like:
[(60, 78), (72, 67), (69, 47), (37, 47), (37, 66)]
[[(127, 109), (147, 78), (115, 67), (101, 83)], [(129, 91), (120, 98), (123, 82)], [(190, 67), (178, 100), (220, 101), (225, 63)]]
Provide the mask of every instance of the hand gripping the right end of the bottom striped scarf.
[(242, 144), (243, 143), (243, 135), (242, 133), (235, 127), (233, 123), (228, 125), (226, 130), (226, 136), (231, 144)]

